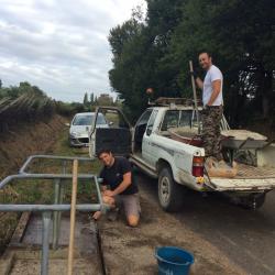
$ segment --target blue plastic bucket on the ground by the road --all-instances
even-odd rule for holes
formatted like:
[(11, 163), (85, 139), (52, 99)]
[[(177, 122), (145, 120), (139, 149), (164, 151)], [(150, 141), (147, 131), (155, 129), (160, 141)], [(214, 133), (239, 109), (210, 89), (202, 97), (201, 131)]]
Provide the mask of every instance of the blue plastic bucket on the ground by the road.
[(194, 256), (179, 248), (163, 246), (155, 250), (158, 275), (188, 275)]

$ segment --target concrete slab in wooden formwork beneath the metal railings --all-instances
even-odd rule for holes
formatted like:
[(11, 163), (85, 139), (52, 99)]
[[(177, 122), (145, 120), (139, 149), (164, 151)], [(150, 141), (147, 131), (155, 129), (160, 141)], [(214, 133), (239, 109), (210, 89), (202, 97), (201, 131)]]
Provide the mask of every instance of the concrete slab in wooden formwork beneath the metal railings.
[[(52, 242), (53, 224), (51, 224), (50, 240)], [(2, 258), (6, 262), (12, 260), (9, 272), (11, 275), (40, 274), (41, 272), (41, 242), (42, 242), (42, 217), (31, 216), (21, 243), (13, 243), (9, 246)], [(48, 274), (67, 274), (67, 257), (69, 243), (69, 216), (62, 217), (59, 245), (57, 250), (50, 250)], [(7, 270), (8, 267), (6, 267)], [(102, 274), (102, 266), (99, 257), (97, 231), (94, 222), (90, 222), (88, 215), (77, 213), (74, 251), (74, 274)]]

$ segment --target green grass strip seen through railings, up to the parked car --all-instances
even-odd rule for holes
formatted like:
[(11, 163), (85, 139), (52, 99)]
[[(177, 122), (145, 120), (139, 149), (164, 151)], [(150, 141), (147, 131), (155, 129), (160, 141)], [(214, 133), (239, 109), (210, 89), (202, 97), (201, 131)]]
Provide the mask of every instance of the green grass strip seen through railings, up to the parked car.
[[(68, 129), (61, 132), (57, 143), (47, 152), (51, 155), (59, 156), (82, 156), (88, 157), (88, 148), (74, 148), (68, 144)], [(78, 173), (97, 175), (101, 164), (98, 160), (78, 163)], [(28, 172), (40, 174), (63, 174), (64, 163), (58, 160), (36, 160)], [(73, 162), (66, 162), (66, 174), (73, 173)], [(66, 183), (66, 184), (65, 184)], [(72, 179), (65, 179), (64, 202), (69, 204), (72, 197)], [(78, 180), (78, 204), (88, 204), (97, 200), (94, 180)], [(3, 204), (53, 204), (54, 183), (46, 179), (14, 180), (9, 187), (0, 193), (0, 202)]]

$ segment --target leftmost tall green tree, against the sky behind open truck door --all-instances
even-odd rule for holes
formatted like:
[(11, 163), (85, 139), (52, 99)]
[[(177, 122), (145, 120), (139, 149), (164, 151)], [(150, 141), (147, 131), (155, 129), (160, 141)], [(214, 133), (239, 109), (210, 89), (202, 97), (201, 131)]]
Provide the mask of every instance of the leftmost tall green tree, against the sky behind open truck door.
[(109, 72), (110, 82), (113, 90), (124, 99), (124, 107), (128, 108), (124, 111), (132, 119), (146, 106), (144, 91), (148, 81), (150, 64), (147, 68), (144, 66), (146, 48), (143, 28), (143, 24), (132, 18), (121, 26), (112, 29), (109, 35), (114, 64), (114, 68)]

